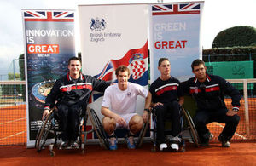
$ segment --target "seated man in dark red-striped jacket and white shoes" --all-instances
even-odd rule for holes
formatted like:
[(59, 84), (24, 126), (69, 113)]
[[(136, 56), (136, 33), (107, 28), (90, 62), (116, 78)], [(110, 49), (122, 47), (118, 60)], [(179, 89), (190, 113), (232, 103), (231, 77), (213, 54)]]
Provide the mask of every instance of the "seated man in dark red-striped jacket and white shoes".
[(157, 143), (160, 145), (160, 151), (168, 148), (165, 135), (166, 113), (172, 115), (172, 136), (170, 138), (170, 147), (174, 151), (178, 151), (179, 134), (181, 132), (180, 124), (180, 107), (183, 105), (183, 90), (177, 78), (170, 75), (171, 65), (167, 58), (160, 58), (158, 62), (158, 70), (160, 77), (157, 78), (150, 86), (152, 94), (151, 106), (154, 107), (157, 116)]

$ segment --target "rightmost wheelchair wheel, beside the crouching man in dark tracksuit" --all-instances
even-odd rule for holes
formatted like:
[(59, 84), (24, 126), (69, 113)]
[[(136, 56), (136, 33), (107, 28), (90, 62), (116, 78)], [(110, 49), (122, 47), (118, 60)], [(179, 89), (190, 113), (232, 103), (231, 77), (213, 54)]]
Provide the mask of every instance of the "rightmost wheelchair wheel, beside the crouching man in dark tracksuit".
[(198, 147), (199, 146), (199, 136), (195, 129), (195, 124), (193, 123), (193, 120), (187, 110), (182, 108), (182, 112), (183, 112), (183, 117), (186, 119), (187, 123), (189, 124), (188, 129), (189, 129), (191, 138), (192, 138), (193, 142), (195, 143), (195, 146)]

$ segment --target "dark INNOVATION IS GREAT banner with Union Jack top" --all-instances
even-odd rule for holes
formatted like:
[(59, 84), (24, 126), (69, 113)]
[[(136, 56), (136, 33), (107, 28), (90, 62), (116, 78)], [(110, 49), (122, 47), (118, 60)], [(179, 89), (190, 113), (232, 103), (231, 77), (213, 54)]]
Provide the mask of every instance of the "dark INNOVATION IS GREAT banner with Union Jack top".
[(44, 100), (76, 56), (74, 10), (22, 9), (26, 65), (27, 147), (41, 125)]

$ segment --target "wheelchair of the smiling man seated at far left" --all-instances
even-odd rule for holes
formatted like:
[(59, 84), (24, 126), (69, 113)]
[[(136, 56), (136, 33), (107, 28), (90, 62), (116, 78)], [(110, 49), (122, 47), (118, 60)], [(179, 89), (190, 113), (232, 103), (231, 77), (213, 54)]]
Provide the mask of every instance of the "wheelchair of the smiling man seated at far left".
[[(92, 124), (92, 129), (90, 130), (86, 130), (88, 117), (90, 117), (90, 122)], [(42, 125), (40, 126), (40, 129), (38, 130), (38, 134), (35, 140), (35, 147), (38, 152), (41, 152), (41, 150), (45, 148), (46, 144), (49, 143), (50, 156), (55, 156), (54, 147), (59, 146), (58, 140), (61, 140), (61, 127), (59, 126), (58, 119), (58, 113), (55, 112), (55, 108), (50, 110), (49, 114), (46, 117), (44, 117), (44, 120), (42, 122)], [(71, 146), (67, 146), (67, 148), (65, 149), (80, 148), (82, 150), (82, 153), (84, 153), (87, 135), (92, 132), (96, 133), (100, 145), (104, 149), (108, 149), (108, 138), (102, 127), (102, 123), (97, 117), (96, 112), (88, 107), (86, 112), (82, 113), (80, 119), (78, 137), (79, 147), (73, 148)], [(51, 140), (48, 142), (49, 139), (54, 139), (54, 141)]]

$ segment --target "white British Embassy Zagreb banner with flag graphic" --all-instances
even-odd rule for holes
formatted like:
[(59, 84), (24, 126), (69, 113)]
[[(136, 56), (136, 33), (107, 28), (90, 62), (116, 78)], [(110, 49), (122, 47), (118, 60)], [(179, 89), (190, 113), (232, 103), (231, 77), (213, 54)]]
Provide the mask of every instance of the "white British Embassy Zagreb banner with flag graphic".
[[(79, 6), (82, 69), (108, 82), (116, 82), (115, 69), (130, 68), (132, 83), (148, 89), (148, 5)], [(137, 112), (143, 114), (144, 98), (137, 99)], [(102, 94), (92, 94), (93, 107), (102, 119)]]

